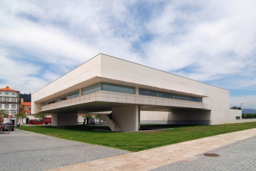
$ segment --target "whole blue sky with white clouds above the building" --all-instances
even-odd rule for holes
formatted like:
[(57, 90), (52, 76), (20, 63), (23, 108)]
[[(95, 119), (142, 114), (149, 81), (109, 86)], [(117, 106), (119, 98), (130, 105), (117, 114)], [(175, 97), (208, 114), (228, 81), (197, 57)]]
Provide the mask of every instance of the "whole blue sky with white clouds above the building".
[(256, 109), (256, 1), (0, 0), (0, 87), (34, 93), (105, 53)]

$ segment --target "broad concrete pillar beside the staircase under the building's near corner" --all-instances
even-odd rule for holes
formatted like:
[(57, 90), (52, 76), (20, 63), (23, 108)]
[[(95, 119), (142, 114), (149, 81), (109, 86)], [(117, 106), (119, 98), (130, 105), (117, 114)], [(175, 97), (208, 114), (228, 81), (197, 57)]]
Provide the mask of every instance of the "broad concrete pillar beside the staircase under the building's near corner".
[(124, 132), (138, 132), (140, 130), (139, 105), (113, 107), (112, 118)]

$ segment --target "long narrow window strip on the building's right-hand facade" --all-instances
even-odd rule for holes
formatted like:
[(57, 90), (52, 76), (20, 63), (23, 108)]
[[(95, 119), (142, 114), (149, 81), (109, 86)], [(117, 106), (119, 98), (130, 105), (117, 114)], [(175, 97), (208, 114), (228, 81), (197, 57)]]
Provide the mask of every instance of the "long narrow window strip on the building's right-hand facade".
[(176, 95), (176, 94), (170, 94), (170, 93), (164, 93), (160, 91), (154, 91), (149, 89), (139, 89), (140, 95), (149, 95), (153, 97), (163, 97), (168, 99), (178, 99), (182, 101), (196, 101), (196, 102), (202, 102), (201, 97), (189, 97), (184, 95)]

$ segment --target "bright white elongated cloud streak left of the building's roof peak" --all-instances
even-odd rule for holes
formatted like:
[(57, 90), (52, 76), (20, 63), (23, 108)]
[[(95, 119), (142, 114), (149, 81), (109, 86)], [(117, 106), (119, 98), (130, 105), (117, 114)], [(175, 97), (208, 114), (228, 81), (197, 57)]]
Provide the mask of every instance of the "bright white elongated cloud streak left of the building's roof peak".
[(59, 58), (63, 57), (72, 57), (82, 62), (84, 54), (89, 57), (95, 54), (95, 51), (81, 45), (79, 39), (72, 39), (59, 28), (41, 26), (22, 19), (14, 20), (9, 26), (0, 28), (0, 33), (5, 46), (19, 47), (47, 62), (59, 63), (62, 62)]

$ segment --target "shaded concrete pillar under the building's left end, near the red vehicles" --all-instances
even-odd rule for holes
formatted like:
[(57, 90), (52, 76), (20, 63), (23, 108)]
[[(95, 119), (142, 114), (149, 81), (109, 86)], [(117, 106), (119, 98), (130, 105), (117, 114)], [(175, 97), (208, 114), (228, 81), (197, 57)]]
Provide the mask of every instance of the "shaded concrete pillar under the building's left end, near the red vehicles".
[(77, 113), (51, 114), (51, 126), (72, 126), (77, 124)]

